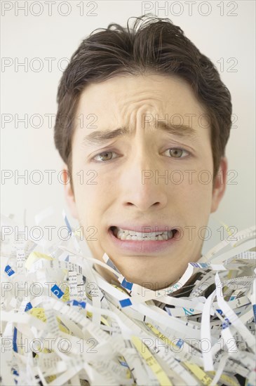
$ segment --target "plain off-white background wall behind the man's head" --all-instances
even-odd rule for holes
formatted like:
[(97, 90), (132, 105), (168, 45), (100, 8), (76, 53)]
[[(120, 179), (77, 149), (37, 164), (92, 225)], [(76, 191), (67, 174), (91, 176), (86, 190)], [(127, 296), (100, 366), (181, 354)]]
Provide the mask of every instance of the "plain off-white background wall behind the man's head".
[[(68, 213), (63, 185), (57, 178), (62, 161), (53, 142), (54, 119), (50, 126), (50, 118), (45, 115), (57, 112), (56, 94), (62, 70), (93, 29), (106, 28), (110, 22), (125, 26), (129, 17), (151, 12), (179, 25), (213, 61), (231, 92), (233, 112), (238, 117), (227, 145), (229, 170), (237, 174), (236, 183), (227, 185), (220, 208), (210, 217), (213, 237), (206, 241), (203, 251), (220, 241), (217, 228), (221, 222), (237, 229), (253, 225), (255, 1), (52, 1), (51, 15), (47, 3), (1, 1), (1, 169), (13, 173), (13, 178), (2, 181), (1, 213), (14, 213), (22, 223), (26, 210), (26, 224), (32, 227), (34, 215), (53, 206), (55, 215), (50, 221), (62, 225), (62, 208)], [(148, 11), (144, 11), (145, 5)], [(55, 58), (51, 69), (46, 58)], [(25, 67), (18, 65), (26, 60)], [(230, 72), (233, 64), (236, 72)], [(40, 65), (41, 71), (37, 71)], [(11, 114), (13, 121), (4, 126), (3, 114)], [(15, 114), (17, 119), (28, 114), (28, 128), (22, 123), (15, 128)], [(39, 119), (34, 118), (29, 124), (33, 114), (41, 114), (40, 128), (33, 127)], [(36, 169), (43, 173), (40, 185), (30, 180), (26, 185), (24, 179), (15, 183), (15, 175), (24, 175), (25, 170), (30, 175)], [(51, 185), (45, 170), (56, 171)], [(233, 175), (229, 175), (229, 182)], [(38, 177), (34, 175), (34, 180)], [(69, 218), (76, 225), (70, 215)]]

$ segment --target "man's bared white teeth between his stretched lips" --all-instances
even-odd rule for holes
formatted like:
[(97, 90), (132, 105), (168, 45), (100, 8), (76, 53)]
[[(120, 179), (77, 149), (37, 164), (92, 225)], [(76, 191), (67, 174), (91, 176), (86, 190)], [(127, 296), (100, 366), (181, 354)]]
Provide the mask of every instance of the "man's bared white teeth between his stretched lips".
[(173, 232), (135, 232), (133, 230), (114, 228), (114, 235), (121, 240), (168, 240), (172, 239)]

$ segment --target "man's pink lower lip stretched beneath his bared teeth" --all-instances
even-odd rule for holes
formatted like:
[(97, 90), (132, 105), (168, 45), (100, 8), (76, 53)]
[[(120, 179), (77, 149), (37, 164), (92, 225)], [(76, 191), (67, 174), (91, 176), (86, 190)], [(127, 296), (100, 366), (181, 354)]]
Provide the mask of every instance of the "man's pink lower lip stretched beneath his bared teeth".
[[(124, 229), (127, 229), (127, 228), (124, 228)], [(137, 232), (141, 232), (141, 227), (140, 229), (138, 229), (138, 227), (133, 227), (133, 229), (128, 229), (128, 230), (135, 230), (135, 229), (137, 229)], [(162, 230), (162, 229), (159, 229), (159, 230)], [(166, 230), (166, 229), (164, 229), (163, 227), (163, 230)], [(173, 246), (173, 244), (177, 242), (177, 239), (175, 239), (175, 237), (173, 237), (173, 239), (170, 239), (170, 240), (156, 240), (156, 241), (119, 240), (117, 239), (117, 237), (114, 236), (110, 227), (109, 227), (108, 233), (114, 246), (126, 252), (127, 251), (135, 252), (135, 253), (160, 252), (170, 248), (171, 246)]]

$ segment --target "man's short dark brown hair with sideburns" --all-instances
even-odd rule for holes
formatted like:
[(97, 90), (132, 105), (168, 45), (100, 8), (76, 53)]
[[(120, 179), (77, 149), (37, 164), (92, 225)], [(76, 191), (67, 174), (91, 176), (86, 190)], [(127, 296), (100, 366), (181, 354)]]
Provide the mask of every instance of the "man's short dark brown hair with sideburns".
[[(119, 74), (158, 72), (186, 80), (210, 119), (213, 178), (229, 139), (231, 95), (216, 67), (168, 18), (148, 14), (132, 27), (110, 24), (95, 29), (74, 52), (58, 87), (55, 146), (72, 174), (72, 135), (81, 92)], [(141, 22), (142, 21), (142, 22)]]

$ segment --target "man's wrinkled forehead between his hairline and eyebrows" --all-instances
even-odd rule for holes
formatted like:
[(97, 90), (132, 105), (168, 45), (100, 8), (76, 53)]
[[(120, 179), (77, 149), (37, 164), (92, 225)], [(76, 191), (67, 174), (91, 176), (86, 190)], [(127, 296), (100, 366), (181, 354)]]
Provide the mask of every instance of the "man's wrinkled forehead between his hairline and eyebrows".
[(184, 79), (148, 73), (119, 75), (89, 84), (81, 93), (78, 117), (79, 114), (84, 119), (93, 114), (97, 128), (104, 129), (111, 125), (137, 126), (143, 114), (151, 114), (151, 121), (165, 119), (179, 123), (182, 119), (189, 124), (189, 117), (202, 117), (206, 109)]

